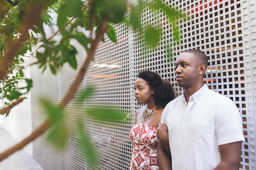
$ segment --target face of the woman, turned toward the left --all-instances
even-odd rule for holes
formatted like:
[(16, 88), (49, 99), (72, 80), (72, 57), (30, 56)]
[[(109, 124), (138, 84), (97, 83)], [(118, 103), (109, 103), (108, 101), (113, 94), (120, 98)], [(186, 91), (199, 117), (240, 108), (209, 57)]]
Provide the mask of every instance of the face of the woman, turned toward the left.
[(142, 78), (137, 78), (135, 81), (135, 97), (138, 104), (147, 103), (149, 100), (153, 99), (153, 92), (148, 86), (147, 82)]

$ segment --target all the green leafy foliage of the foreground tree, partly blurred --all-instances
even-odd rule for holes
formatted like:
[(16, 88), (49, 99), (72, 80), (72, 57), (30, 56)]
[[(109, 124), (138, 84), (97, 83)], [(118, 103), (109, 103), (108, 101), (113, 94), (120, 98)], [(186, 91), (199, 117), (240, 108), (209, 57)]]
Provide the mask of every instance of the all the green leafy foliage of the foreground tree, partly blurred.
[[(23, 64), (26, 52), (31, 52), (33, 47), (40, 48), (40, 51), (36, 51), (35, 53), (37, 61), (34, 64), (42, 68), (42, 71), (46, 70), (48, 67), (52, 74), (56, 74), (64, 63), (69, 63), (73, 69), (77, 69), (76, 55), (78, 51), (76, 47), (70, 43), (72, 40), (76, 40), (80, 43), (87, 53), (95, 52), (90, 51), (92, 50), (90, 49), (91, 45), (96, 42), (94, 41), (95, 38), (92, 37), (94, 30), (96, 30), (96, 38), (101, 36), (100, 39), (102, 42), (104, 42), (105, 39), (103, 38), (103, 34), (100, 34), (100, 31), (106, 33), (111, 41), (118, 43), (114, 24), (126, 23), (127, 26), (134, 28), (134, 32), (142, 36), (145, 43), (155, 48), (158, 45), (159, 37), (162, 33), (160, 21), (156, 18), (158, 24), (144, 25), (142, 27), (140, 22), (142, 10), (146, 7), (149, 7), (150, 10), (155, 12), (157, 10), (163, 10), (168, 16), (166, 20), (172, 23), (176, 40), (179, 39), (179, 32), (175, 27), (175, 18), (183, 17), (180, 12), (168, 8), (160, 0), (155, 0), (151, 3), (139, 0), (136, 7), (128, 5), (126, 0), (89, 0), (88, 2), (81, 0), (0, 0), (0, 64), (6, 59), (9, 47), (19, 42), (19, 38), (22, 37), (20, 30), (24, 28), (24, 24), (30, 21), (25, 22), (26, 11), (35, 3), (41, 4), (44, 10), (42, 14), (40, 14), (40, 17), (37, 18), (37, 23), (30, 27), (30, 34), (26, 37), (26, 41), (22, 41), (22, 43), (19, 44), (20, 48), (16, 49), (14, 56), (8, 61), (6, 76), (3, 80), (0, 80), (0, 99), (3, 100), (5, 98), (5, 100), (8, 101), (5, 105), (20, 98), (20, 96), (29, 92), (32, 87), (32, 80), (23, 78), (24, 74), (22, 70), (24, 70)], [(130, 20), (127, 20), (124, 16), (129, 8)], [(43, 25), (48, 25), (51, 28), (54, 27), (52, 18), (50, 17), (52, 11), (58, 14), (57, 26), (58, 33), (61, 35), (60, 41), (46, 37), (44, 32)], [(33, 14), (31, 14), (30, 17), (33, 17)], [(107, 23), (106, 29), (100, 29), (103, 23)], [(80, 28), (90, 31), (89, 36), (79, 31)], [(98, 42), (96, 46), (97, 45)], [(18, 83), (22, 80), (26, 81), (27, 86), (18, 88)], [(23, 92), (24, 89), (26, 89), (26, 92)], [(92, 92), (93, 88), (88, 87), (87, 90), (82, 93), (82, 96), (78, 98), (78, 101), (83, 102)], [(66, 141), (69, 135), (65, 125), (64, 108), (52, 106), (52, 104), (47, 101), (44, 101), (43, 104), (50, 120), (53, 123), (57, 123), (57, 125), (55, 124), (49, 131), (47, 138), (49, 140), (59, 141), (58, 148), (63, 149), (67, 144)], [(106, 119), (106, 121), (111, 119), (122, 121), (128, 116), (108, 109), (88, 108), (86, 111), (92, 116)], [(75, 123), (78, 125), (78, 129), (76, 129), (74, 133), (80, 138), (84, 153), (94, 153), (90, 134), (88, 133), (88, 129), (86, 129), (85, 122), (76, 120)], [(89, 156), (89, 158), (91, 162), (95, 162), (94, 156)]]

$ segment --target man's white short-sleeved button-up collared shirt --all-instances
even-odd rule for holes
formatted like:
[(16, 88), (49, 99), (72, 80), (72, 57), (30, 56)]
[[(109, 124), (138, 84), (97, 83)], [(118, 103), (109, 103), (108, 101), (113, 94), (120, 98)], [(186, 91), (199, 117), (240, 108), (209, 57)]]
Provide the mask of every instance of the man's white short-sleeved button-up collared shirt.
[(172, 170), (213, 170), (221, 162), (218, 145), (245, 141), (234, 102), (206, 85), (188, 104), (184, 92), (168, 103), (161, 123), (168, 127)]

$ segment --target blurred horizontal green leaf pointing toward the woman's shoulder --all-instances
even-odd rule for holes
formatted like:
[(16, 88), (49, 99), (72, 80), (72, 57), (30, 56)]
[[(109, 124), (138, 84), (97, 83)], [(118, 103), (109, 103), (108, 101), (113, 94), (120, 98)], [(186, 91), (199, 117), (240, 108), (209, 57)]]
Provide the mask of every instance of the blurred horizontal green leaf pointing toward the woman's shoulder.
[(109, 109), (95, 109), (95, 110), (89, 110), (88, 113), (90, 113), (93, 117), (99, 118), (99, 119), (114, 119), (114, 120), (123, 120), (126, 118), (126, 114), (111, 111)]

